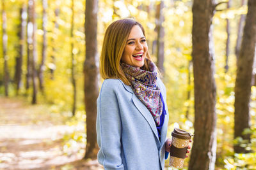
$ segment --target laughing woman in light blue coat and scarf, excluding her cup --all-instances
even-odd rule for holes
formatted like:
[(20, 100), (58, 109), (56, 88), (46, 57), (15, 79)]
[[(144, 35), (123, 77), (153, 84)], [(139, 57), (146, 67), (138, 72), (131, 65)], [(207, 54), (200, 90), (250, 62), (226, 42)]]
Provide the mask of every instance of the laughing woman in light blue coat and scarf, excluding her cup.
[(106, 30), (100, 56), (104, 78), (97, 99), (98, 160), (104, 169), (160, 170), (166, 140), (166, 89), (148, 54), (145, 31), (131, 19)]

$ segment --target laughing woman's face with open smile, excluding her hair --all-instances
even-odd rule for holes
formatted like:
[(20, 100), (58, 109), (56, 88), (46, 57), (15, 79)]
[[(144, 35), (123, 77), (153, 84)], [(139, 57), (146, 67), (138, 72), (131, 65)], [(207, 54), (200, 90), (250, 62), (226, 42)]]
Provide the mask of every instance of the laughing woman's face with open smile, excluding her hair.
[(139, 25), (134, 25), (126, 41), (122, 62), (134, 67), (144, 66), (144, 59), (148, 52), (146, 38)]

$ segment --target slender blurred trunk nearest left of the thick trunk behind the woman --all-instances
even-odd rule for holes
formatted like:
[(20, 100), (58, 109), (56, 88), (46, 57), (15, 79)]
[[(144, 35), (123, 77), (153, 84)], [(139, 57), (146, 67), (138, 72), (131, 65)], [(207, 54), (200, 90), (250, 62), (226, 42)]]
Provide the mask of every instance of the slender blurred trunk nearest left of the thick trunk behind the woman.
[(76, 78), (75, 78), (75, 58), (74, 58), (74, 53), (73, 53), (73, 49), (74, 49), (74, 35), (73, 35), (73, 31), (74, 31), (74, 0), (72, 0), (72, 18), (71, 18), (71, 30), (70, 30), (70, 38), (71, 38), (71, 80), (72, 80), (72, 85), (73, 85), (73, 106), (72, 106), (72, 115), (74, 117), (74, 115), (76, 115)]

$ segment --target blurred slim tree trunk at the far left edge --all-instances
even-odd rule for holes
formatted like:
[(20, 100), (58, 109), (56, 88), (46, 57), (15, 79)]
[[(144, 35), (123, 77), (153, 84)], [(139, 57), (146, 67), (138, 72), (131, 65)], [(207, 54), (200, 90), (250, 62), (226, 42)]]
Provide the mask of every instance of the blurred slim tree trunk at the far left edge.
[(4, 57), (4, 95), (9, 96), (9, 71), (8, 71), (8, 55), (7, 55), (7, 17), (5, 11), (5, 2), (2, 0), (2, 41), (3, 41), (3, 57)]

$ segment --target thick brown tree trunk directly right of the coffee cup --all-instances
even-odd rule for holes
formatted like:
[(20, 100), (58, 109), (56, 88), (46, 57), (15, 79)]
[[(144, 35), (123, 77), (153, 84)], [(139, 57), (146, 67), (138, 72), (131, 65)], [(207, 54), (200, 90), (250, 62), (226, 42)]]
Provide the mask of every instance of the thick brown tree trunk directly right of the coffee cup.
[(213, 170), (216, 160), (216, 84), (212, 38), (214, 0), (194, 0), (192, 11), (195, 138), (189, 170)]

